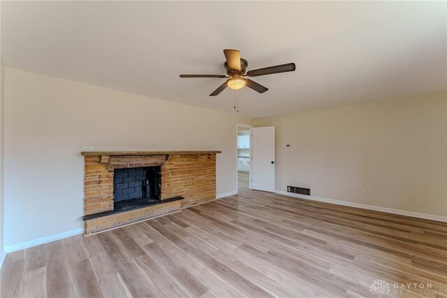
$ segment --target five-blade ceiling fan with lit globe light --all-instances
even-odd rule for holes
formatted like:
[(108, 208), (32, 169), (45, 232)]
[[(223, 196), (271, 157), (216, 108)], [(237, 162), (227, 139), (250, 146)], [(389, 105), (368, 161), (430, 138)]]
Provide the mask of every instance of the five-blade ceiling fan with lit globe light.
[(225, 54), (226, 62), (223, 64), (228, 76), (223, 75), (196, 75), (196, 74), (182, 74), (180, 78), (228, 78), (225, 83), (220, 85), (219, 88), (214, 90), (210, 97), (214, 97), (222, 92), (226, 87), (230, 87), (234, 90), (239, 90), (244, 86), (247, 86), (259, 93), (264, 93), (268, 88), (260, 85), (249, 78), (242, 78), (244, 76), (265, 76), (273, 73), (286, 73), (288, 71), (295, 71), (295, 63), (281, 64), (277, 66), (265, 67), (263, 69), (254, 69), (253, 71), (247, 70), (249, 65), (246, 59), (241, 59), (240, 52), (238, 50), (223, 50)]

